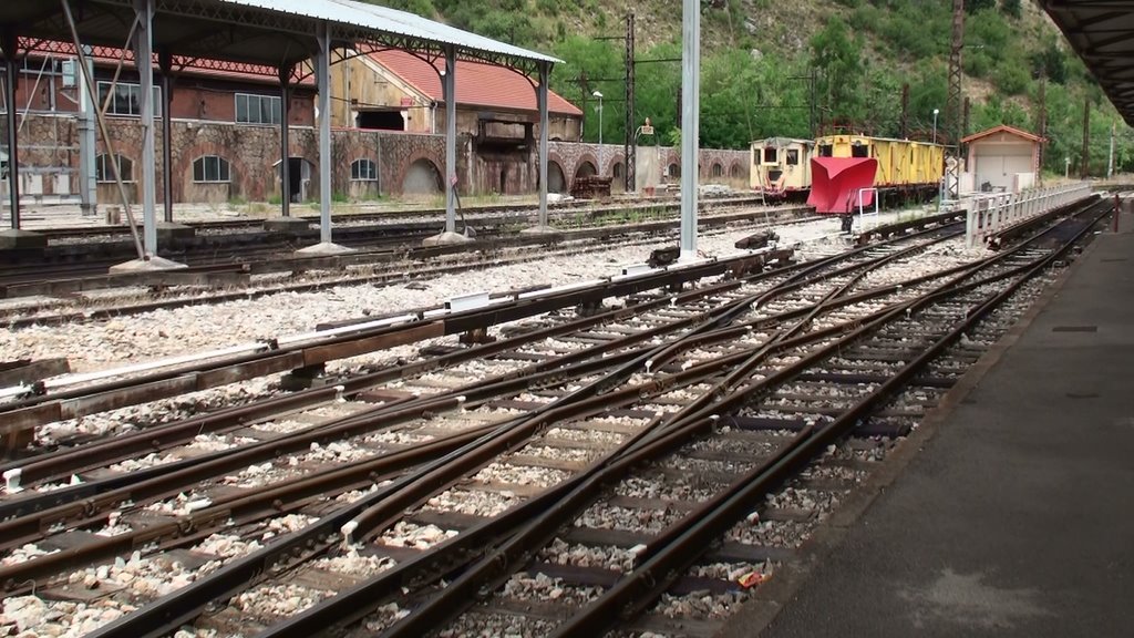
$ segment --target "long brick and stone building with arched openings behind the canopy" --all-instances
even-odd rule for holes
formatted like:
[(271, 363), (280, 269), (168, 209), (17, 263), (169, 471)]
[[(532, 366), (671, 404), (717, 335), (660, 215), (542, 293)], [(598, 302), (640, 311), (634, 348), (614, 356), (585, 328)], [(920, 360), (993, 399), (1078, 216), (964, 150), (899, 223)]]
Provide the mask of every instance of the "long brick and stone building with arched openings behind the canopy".
[[(20, 192), (32, 203), (78, 199), (82, 76), (67, 45), (58, 47), (51, 52), (29, 53), (18, 78)], [(109, 133), (109, 140), (95, 136), (94, 174), (98, 201), (103, 203), (120, 199), (116, 168), (134, 202), (142, 174), (137, 76), (128, 52), (127, 65), (117, 68), (120, 56), (117, 50), (99, 49), (92, 56)], [(458, 64), (457, 74), (458, 190), (536, 192), (539, 118), (533, 85), (513, 70), (475, 62)], [(288, 102), (286, 185), (279, 177), (282, 108), (273, 69), (187, 62), (175, 65), (170, 77), (170, 186), (175, 202), (270, 202), (284, 196), (303, 202), (319, 198), (319, 115), (310, 73), (301, 72)], [(333, 65), (331, 79), (332, 195), (365, 200), (440, 194), (445, 108), (435, 67), (409, 53), (383, 51)], [(156, 104), (163, 102), (161, 91), (160, 86), (154, 91)], [(600, 149), (577, 142), (582, 111), (555, 94), (549, 96), (549, 191), (568, 192), (572, 181), (595, 174), (620, 184), (625, 174), (621, 145)], [(158, 126), (166, 116), (161, 109), (159, 106)], [(164, 184), (160, 131), (156, 141), (160, 198)], [(677, 150), (652, 148), (651, 152), (658, 154), (658, 182), (676, 181), (680, 173)], [(745, 151), (702, 150), (702, 178), (743, 187), (746, 158)]]

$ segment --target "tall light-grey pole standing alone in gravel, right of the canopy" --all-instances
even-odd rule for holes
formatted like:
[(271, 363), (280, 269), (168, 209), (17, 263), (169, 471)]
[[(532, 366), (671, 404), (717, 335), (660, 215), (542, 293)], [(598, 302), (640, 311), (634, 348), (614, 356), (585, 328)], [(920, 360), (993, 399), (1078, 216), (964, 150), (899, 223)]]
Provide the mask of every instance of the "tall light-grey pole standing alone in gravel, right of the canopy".
[(682, 261), (697, 257), (701, 3), (682, 1)]

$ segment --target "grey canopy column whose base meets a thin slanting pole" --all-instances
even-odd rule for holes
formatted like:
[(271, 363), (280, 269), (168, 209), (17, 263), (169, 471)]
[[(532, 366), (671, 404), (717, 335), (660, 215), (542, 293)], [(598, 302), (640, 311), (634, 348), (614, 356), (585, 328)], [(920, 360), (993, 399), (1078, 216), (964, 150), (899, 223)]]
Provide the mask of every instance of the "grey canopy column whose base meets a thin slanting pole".
[(158, 254), (156, 200), (158, 162), (153, 132), (153, 0), (134, 0), (138, 30), (134, 35), (134, 60), (138, 70), (142, 107), (142, 245), (146, 258)]

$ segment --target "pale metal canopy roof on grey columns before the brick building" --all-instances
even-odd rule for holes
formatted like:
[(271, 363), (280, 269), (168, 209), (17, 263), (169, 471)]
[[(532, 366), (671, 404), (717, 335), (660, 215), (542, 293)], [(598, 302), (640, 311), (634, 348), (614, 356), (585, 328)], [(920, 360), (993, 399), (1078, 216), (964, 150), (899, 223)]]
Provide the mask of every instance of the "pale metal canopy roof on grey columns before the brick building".
[[(84, 44), (124, 47), (135, 20), (133, 0), (67, 0)], [(332, 49), (391, 48), (510, 66), (527, 73), (559, 60), (415, 16), (352, 0), (154, 0), (154, 51), (287, 67), (319, 50), (327, 24)], [(0, 1), (0, 30), (20, 37), (70, 41), (58, 0)]]

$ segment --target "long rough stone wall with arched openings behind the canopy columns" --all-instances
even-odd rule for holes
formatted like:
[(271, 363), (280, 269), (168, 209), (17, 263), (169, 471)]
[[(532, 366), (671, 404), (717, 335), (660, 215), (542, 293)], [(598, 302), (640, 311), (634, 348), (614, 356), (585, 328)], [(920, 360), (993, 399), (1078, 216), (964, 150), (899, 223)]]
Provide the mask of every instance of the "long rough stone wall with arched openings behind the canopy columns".
[[(2, 125), (0, 125), (2, 128)], [(208, 123), (200, 120), (175, 120), (174, 134), (174, 201), (220, 202), (232, 199), (266, 201), (280, 196), (277, 162), (279, 161), (279, 129), (274, 126), (249, 126)], [(142, 128), (135, 118), (112, 118), (110, 120), (111, 145), (115, 152), (133, 162), (129, 181), (137, 183), (142, 176)], [(361, 129), (335, 129), (332, 132), (331, 183), (336, 194), (353, 198), (369, 198), (382, 194), (398, 195), (414, 162), (428, 162), (439, 175), (445, 170), (445, 136)], [(319, 198), (319, 141), (314, 128), (293, 127), (290, 131), (290, 156), (310, 162), (310, 184), (305, 190), (307, 199)], [(61, 171), (70, 174), (70, 192), (77, 188), (78, 131), (73, 117), (31, 115), (20, 132), (22, 173)], [(156, 144), (158, 193), (161, 193), (162, 166), (161, 140)], [(98, 142), (98, 152), (107, 152), (107, 145)], [(615, 144), (584, 144), (575, 142), (550, 142), (549, 185), (569, 190), (570, 182), (581, 174), (621, 175), (625, 165), (623, 148)], [(679, 165), (678, 149), (661, 149), (662, 166)], [(206, 156), (225, 159), (229, 166), (229, 183), (203, 184), (194, 181), (193, 165)], [(457, 176), (462, 193), (503, 192), (507, 194), (534, 193), (539, 185), (536, 145), (511, 151), (475, 149), (473, 137), (457, 137)], [(350, 166), (354, 161), (367, 159), (375, 163), (378, 182), (359, 183), (352, 179)], [(743, 187), (747, 181), (747, 151), (710, 150), (701, 151), (701, 182), (731, 184)], [(712, 167), (720, 166), (722, 175), (713, 177)], [(559, 171), (562, 179), (556, 176)], [(738, 171), (738, 173), (737, 173)], [(738, 178), (734, 178), (739, 175)], [(669, 182), (676, 182), (671, 176)], [(621, 179), (613, 184), (617, 191)], [(44, 181), (44, 193), (51, 194), (51, 181)], [(136, 190), (130, 186), (129, 191)], [(117, 200), (117, 187), (100, 186), (101, 198)], [(102, 199), (101, 201), (108, 201)]]

